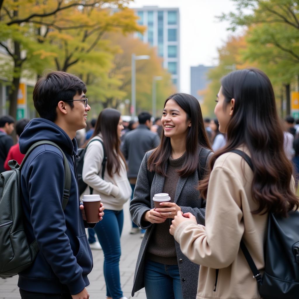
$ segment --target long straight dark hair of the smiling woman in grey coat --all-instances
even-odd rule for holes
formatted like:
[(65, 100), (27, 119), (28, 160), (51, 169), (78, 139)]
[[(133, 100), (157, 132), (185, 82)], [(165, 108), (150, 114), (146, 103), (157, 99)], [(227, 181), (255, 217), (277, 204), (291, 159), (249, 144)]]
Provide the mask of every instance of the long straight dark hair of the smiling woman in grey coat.
[[(168, 97), (168, 100), (174, 100), (186, 113), (187, 120), (191, 120), (191, 126), (188, 127), (186, 136), (186, 159), (182, 168), (178, 171), (179, 176), (190, 176), (198, 167), (199, 147), (211, 149), (210, 141), (205, 131), (202, 111), (198, 100), (190, 94), (176, 93)], [(186, 121), (187, 121), (186, 120)], [(149, 156), (147, 168), (149, 171), (155, 171), (163, 176), (165, 173), (165, 164), (171, 154), (170, 137), (161, 134), (160, 145)]]

